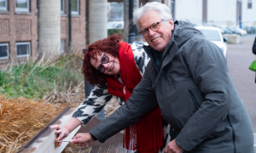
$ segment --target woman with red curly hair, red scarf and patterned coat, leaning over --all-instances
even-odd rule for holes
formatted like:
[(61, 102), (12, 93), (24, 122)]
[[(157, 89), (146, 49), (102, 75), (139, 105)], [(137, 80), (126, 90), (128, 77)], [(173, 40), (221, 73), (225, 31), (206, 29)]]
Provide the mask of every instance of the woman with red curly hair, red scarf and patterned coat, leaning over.
[[(144, 43), (134, 42), (129, 45), (120, 39), (119, 35), (113, 34), (92, 43), (87, 49), (82, 70), (84, 77), (95, 88), (64, 127), (51, 126), (59, 129), (55, 132), (60, 133), (58, 140), (67, 137), (81, 123), (86, 125), (113, 97), (119, 101), (119, 105), (124, 105), (133, 88), (141, 81), (149, 60), (143, 50)], [(140, 153), (163, 152), (166, 142), (172, 140), (169, 132), (173, 133), (170, 125), (161, 119), (157, 106), (138, 122), (125, 128), (123, 146)]]

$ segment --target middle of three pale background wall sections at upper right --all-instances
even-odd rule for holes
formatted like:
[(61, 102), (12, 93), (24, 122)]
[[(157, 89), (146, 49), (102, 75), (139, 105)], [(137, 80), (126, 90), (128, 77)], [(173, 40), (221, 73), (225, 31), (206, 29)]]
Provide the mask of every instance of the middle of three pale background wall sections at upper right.
[(209, 25), (236, 25), (236, 0), (208, 0), (207, 20)]

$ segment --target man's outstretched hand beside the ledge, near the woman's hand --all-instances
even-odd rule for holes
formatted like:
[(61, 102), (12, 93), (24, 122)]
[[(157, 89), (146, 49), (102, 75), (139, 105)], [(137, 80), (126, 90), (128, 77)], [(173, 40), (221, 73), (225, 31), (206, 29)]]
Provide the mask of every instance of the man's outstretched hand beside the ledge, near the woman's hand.
[(70, 143), (84, 146), (90, 144), (93, 141), (94, 139), (92, 139), (90, 133), (78, 133), (76, 136), (73, 137), (72, 140), (70, 140)]

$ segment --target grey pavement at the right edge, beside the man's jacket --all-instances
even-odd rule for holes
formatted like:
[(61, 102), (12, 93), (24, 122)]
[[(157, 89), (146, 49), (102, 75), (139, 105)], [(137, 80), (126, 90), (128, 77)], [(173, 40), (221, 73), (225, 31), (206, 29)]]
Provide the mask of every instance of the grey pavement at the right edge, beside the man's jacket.
[(247, 35), (241, 37), (241, 44), (228, 44), (227, 64), (230, 77), (251, 118), (256, 150), (256, 73), (248, 69), (256, 60), (252, 51), (255, 37), (255, 34)]

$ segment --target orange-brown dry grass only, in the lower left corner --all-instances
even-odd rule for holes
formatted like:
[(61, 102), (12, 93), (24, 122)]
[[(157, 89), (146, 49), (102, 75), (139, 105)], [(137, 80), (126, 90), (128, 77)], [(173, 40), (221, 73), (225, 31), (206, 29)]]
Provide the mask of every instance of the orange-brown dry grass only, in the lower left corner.
[(0, 95), (0, 152), (13, 153), (67, 107), (45, 100), (6, 99)]

